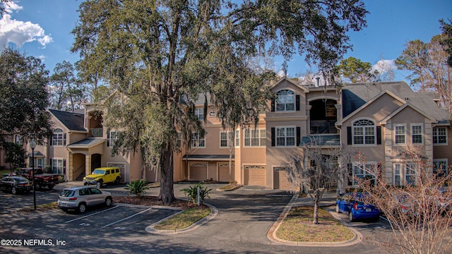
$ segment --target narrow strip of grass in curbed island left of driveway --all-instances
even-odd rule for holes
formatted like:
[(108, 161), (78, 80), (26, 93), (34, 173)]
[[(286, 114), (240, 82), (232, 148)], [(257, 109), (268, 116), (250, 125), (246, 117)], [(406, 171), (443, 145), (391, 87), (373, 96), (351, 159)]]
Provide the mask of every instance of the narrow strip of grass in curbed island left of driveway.
[(210, 214), (210, 207), (190, 208), (169, 219), (165, 219), (163, 222), (155, 225), (154, 228), (159, 230), (185, 229), (186, 227), (191, 226), (191, 224), (198, 222), (198, 220), (203, 219), (203, 217), (206, 217), (208, 214)]

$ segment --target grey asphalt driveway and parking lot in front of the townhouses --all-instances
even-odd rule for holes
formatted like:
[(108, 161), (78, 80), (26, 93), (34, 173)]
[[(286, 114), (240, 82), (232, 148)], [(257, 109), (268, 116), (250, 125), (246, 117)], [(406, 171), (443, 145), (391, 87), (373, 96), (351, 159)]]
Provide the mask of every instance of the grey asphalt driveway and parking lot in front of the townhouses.
[[(56, 200), (59, 188), (63, 186), (64, 184), (59, 185), (54, 192), (37, 193), (37, 197), (40, 200), (44, 197)], [(367, 238), (374, 237), (373, 234), (380, 234), (381, 229), (376, 225), (368, 227), (369, 224), (359, 222), (352, 226), (362, 231), (365, 239), (355, 246), (300, 247), (285, 246), (270, 241), (266, 236), (267, 232), (292, 195), (283, 191), (251, 186), (232, 192), (215, 191), (219, 186), (208, 185), (208, 188), (213, 188), (213, 193), (206, 200), (218, 209), (218, 215), (197, 229), (174, 235), (149, 234), (145, 231), (145, 226), (173, 214), (174, 210), (147, 210), (147, 207), (117, 207), (107, 210), (100, 207), (83, 215), (66, 214), (55, 210), (31, 217), (10, 212), (15, 209), (18, 202), (3, 202), (0, 207), (0, 224), (2, 225), (0, 238), (16, 241), (36, 239), (35, 242), (39, 244), (0, 246), (0, 253), (60, 253), (61, 251), (71, 251), (71, 253), (347, 253), (357, 250), (370, 253), (376, 250), (382, 252), (379, 246), (372, 241), (367, 241)], [(180, 190), (185, 187), (184, 184), (175, 184), (174, 195), (177, 198), (184, 197)], [(115, 195), (125, 194), (124, 186), (108, 186), (106, 189)], [(157, 195), (157, 192), (158, 188), (150, 190), (153, 195)], [(8, 194), (0, 193), (0, 200), (5, 195)], [(20, 198), (32, 199), (32, 195), (14, 196), (10, 201)], [(84, 217), (87, 215), (90, 216)], [(71, 221), (72, 219), (75, 220)], [(40, 241), (44, 240), (50, 240), (52, 246), (43, 246), (44, 242)], [(65, 244), (57, 245), (62, 242)]]

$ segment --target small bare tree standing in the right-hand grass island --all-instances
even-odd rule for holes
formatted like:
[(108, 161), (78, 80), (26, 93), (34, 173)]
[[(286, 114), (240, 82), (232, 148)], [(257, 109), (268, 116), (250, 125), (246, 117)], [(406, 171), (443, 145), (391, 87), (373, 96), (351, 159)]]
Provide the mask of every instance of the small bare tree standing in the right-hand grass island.
[(311, 142), (304, 145), (304, 154), (287, 155), (285, 168), (287, 179), (300, 190), (309, 186), (309, 195), (314, 200), (314, 224), (319, 224), (319, 201), (326, 188), (335, 183), (340, 168), (337, 159), (340, 148), (321, 148), (321, 139), (311, 137)]

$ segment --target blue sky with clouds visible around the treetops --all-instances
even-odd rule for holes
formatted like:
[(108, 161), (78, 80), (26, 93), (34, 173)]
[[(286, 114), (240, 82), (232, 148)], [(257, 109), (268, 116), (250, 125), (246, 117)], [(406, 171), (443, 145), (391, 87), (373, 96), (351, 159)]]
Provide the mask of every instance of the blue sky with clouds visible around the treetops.
[[(0, 47), (15, 43), (16, 49), (35, 56), (53, 72), (62, 61), (75, 63), (78, 55), (69, 52), (73, 43), (71, 30), (78, 20), (81, 0), (20, 0), (14, 1), (9, 13), (0, 20)], [(438, 20), (452, 18), (450, 0), (364, 0), (367, 28), (350, 32), (353, 56), (376, 64), (391, 63), (403, 52), (410, 40), (429, 42), (441, 33)], [(282, 60), (275, 59), (276, 68)], [(309, 66), (303, 56), (293, 56), (287, 73), (295, 76), (306, 73)], [(314, 68), (313, 68), (314, 70)], [(406, 73), (396, 71), (396, 80), (405, 80)]]

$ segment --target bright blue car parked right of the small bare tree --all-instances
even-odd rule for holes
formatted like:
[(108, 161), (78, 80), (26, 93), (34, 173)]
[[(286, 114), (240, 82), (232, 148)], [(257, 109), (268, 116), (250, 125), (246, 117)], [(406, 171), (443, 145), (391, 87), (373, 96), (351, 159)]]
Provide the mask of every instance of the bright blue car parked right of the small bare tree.
[(369, 219), (378, 221), (380, 219), (380, 210), (374, 205), (364, 205), (363, 193), (344, 193), (336, 200), (336, 212), (342, 212), (348, 215), (350, 222)]

